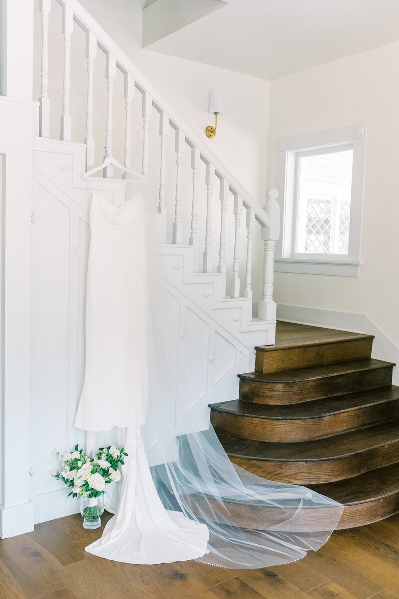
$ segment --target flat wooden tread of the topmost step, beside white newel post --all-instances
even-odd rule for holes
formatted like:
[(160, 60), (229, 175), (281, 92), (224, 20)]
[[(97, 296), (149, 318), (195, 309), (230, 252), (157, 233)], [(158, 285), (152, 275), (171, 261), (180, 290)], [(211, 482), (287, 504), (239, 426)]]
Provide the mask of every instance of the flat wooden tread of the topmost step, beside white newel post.
[(354, 341), (357, 339), (373, 339), (373, 335), (363, 335), (336, 329), (323, 329), (319, 326), (297, 325), (290, 322), (276, 323), (276, 343), (271, 346), (258, 346), (260, 351), (273, 351), (288, 349), (290, 347), (304, 347), (324, 343), (337, 343), (339, 341)]

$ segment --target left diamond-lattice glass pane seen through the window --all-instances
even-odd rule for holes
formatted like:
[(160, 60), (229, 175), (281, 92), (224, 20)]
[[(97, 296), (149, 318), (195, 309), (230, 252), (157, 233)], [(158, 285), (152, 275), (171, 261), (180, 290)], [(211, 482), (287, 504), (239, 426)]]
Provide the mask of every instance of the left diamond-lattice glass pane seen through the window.
[(305, 252), (325, 254), (330, 252), (331, 201), (307, 198)]

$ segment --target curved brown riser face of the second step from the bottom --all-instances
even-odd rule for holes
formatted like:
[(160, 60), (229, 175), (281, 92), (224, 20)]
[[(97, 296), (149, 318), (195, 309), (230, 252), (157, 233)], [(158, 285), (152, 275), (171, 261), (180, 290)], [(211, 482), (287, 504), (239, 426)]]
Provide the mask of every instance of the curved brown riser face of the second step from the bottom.
[[(399, 434), (398, 434), (399, 437)], [(234, 464), (265, 479), (294, 485), (319, 485), (335, 480), (349, 479), (358, 474), (399, 462), (397, 441), (371, 447), (351, 455), (317, 460), (250, 459), (229, 456)]]

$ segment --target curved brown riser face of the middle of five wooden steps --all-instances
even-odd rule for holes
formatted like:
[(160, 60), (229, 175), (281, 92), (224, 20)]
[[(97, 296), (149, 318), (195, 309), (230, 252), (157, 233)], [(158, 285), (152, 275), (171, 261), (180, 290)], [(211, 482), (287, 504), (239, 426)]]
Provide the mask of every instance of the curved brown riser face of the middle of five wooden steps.
[(211, 410), (211, 423), (218, 433), (272, 443), (313, 441), (396, 418), (399, 418), (399, 401), (307, 419), (254, 418)]

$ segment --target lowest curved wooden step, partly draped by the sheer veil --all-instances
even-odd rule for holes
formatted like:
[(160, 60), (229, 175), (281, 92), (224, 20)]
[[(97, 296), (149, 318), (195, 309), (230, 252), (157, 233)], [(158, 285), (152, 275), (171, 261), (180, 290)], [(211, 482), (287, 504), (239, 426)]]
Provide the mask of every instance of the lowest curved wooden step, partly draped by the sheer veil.
[[(343, 504), (343, 514), (337, 530), (371, 524), (399, 512), (399, 463), (310, 489)], [(202, 515), (205, 512), (211, 519), (220, 513), (220, 504), (216, 500), (204, 501), (202, 496), (194, 495), (187, 496), (187, 500), (194, 513)], [(213, 504), (217, 509), (213, 509)], [(229, 500), (225, 505), (229, 519), (237, 527), (273, 530), (282, 520), (281, 510), (275, 507)], [(279, 531), (306, 531), (309, 530), (310, 522), (312, 530), (324, 531), (326, 519), (331, 518), (331, 508), (304, 508), (300, 512), (300, 518), (291, 519), (294, 514), (295, 510), (290, 512), (287, 506), (285, 521), (278, 525)]]

